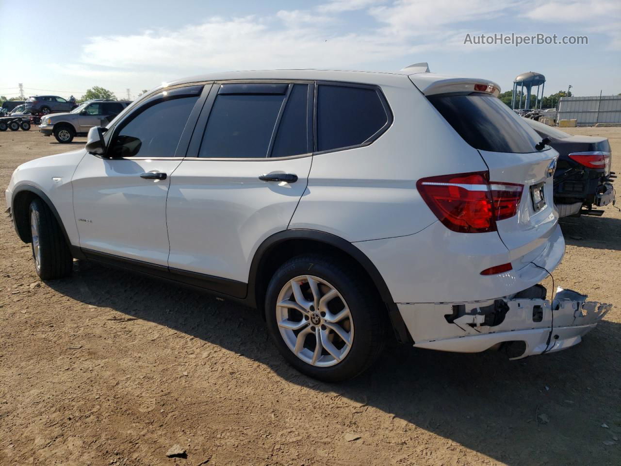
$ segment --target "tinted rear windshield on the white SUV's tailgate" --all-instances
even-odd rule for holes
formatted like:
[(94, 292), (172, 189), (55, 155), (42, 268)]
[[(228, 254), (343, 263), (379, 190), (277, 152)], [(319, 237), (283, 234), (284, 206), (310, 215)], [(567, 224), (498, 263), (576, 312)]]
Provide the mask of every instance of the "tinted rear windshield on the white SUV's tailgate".
[(489, 152), (538, 152), (541, 140), (522, 118), (489, 94), (439, 94), (429, 101), (472, 147)]

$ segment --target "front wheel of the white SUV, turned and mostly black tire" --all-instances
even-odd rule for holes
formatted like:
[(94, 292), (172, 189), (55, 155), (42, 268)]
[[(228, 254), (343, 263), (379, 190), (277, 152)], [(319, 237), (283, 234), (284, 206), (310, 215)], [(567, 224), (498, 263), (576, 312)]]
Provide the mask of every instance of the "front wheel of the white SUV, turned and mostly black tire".
[[(73, 257), (56, 217), (40, 198), (30, 203), (28, 212), (32, 239), (32, 258), (42, 280), (56, 280), (71, 275)], [(36, 222), (36, 227), (33, 227)], [(38, 233), (35, 237), (35, 233)]]

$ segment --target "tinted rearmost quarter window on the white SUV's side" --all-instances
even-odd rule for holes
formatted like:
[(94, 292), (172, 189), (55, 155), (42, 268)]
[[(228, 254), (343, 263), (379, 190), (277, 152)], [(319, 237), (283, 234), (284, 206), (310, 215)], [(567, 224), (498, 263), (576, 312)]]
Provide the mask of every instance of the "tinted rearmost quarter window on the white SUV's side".
[(364, 144), (384, 127), (389, 115), (376, 89), (319, 85), (317, 150)]

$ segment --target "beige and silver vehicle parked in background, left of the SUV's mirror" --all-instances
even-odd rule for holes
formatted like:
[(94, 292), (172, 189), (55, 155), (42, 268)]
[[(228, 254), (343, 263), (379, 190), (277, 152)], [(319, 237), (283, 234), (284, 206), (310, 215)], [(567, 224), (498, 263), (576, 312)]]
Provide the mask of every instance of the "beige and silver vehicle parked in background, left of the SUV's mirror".
[(39, 131), (46, 136), (53, 134), (58, 142), (66, 144), (76, 136), (86, 135), (94, 126), (106, 126), (129, 104), (129, 101), (87, 101), (69, 113), (42, 117)]

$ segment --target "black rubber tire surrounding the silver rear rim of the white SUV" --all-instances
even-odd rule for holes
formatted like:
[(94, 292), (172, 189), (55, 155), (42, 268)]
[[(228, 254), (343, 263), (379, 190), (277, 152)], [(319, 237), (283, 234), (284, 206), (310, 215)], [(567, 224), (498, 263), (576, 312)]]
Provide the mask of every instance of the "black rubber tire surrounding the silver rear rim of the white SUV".
[[(279, 318), (277, 317), (276, 303), (281, 290), (284, 290), (293, 278), (304, 275), (312, 275), (329, 283), (342, 296), (350, 311), (351, 325), (353, 325), (354, 329), (350, 349), (340, 362), (336, 362), (329, 367), (318, 367), (297, 357), (293, 350), (289, 349), (278, 326)], [(285, 291), (285, 293), (288, 292)], [(310, 293), (310, 291), (307, 290), (305, 293)], [(311, 307), (311, 309), (314, 308)], [(317, 311), (319, 309), (315, 311), (315, 314)], [(361, 275), (356, 268), (351, 267), (347, 263), (318, 254), (299, 255), (281, 265), (271, 278), (265, 297), (265, 318), (268, 332), (281, 355), (299, 372), (328, 382), (343, 381), (356, 377), (375, 362), (379, 354), (381, 354), (385, 341), (386, 319), (383, 312), (383, 303), (381, 303), (377, 293), (373, 290), (373, 285), (369, 283), (365, 276)], [(325, 317), (324, 313), (321, 314), (322, 318)], [(302, 313), (298, 313), (298, 315), (302, 319), (306, 319), (308, 324), (312, 324), (312, 316), (311, 319), (307, 319), (302, 316)], [(294, 321), (297, 320), (294, 319)], [(310, 328), (317, 329), (317, 332), (319, 332), (320, 328), (325, 330), (323, 322), (322, 320), (320, 324), (317, 324), (315, 321), (315, 327), (311, 326)], [(285, 330), (285, 332), (287, 331)], [(328, 329), (328, 332), (335, 333), (330, 331), (330, 329)], [(299, 332), (297, 334), (294, 333), (294, 335), (299, 335)], [(304, 338), (304, 347), (310, 352), (313, 347), (312, 344), (316, 342), (316, 339), (313, 334), (309, 334), (309, 337)], [(310, 339), (310, 348), (306, 346), (309, 344), (306, 340), (308, 338)], [(337, 339), (335, 336), (332, 336), (332, 338)], [(332, 340), (332, 342), (335, 341), (337, 340)], [(322, 355), (325, 356), (321, 358), (330, 357), (329, 352), (325, 349), (322, 349)]]

